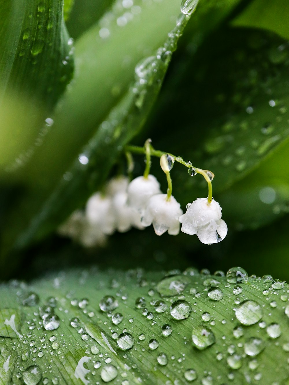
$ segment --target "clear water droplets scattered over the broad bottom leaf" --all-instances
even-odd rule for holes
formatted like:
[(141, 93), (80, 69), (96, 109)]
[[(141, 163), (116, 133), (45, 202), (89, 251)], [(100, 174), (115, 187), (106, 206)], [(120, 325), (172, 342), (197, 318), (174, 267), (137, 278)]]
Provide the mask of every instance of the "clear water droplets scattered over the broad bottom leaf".
[[(147, 299), (144, 297), (138, 297), (134, 301), (135, 310), (137, 312), (140, 311), (140, 313), (150, 320), (152, 323), (151, 325), (157, 324), (158, 316), (157, 314), (165, 313), (168, 316), (171, 316), (172, 325), (169, 323), (164, 323), (161, 325), (161, 335), (164, 338), (169, 337), (173, 333), (174, 324), (175, 321), (182, 321), (190, 317), (190, 314), (193, 311), (192, 303), (190, 303), (184, 295), (185, 288), (189, 285), (191, 281), (191, 276), (198, 275), (199, 272), (197, 269), (194, 268), (188, 268), (184, 271), (184, 273), (180, 272), (173, 272), (169, 275), (165, 276), (160, 280), (157, 284), (152, 284), (152, 286), (155, 285), (154, 288), (150, 288), (148, 290), (148, 296), (149, 296), (149, 304), (147, 303)], [(224, 296), (224, 293), (222, 289), (219, 286), (221, 285), (222, 277), (225, 277), (225, 274), (222, 271), (217, 271), (214, 273), (214, 276), (209, 276), (209, 271), (207, 269), (203, 269), (200, 271), (199, 277), (202, 278), (202, 285), (205, 286), (204, 291), (206, 292), (207, 297), (209, 298), (212, 303), (214, 301), (222, 301), (222, 298)], [(207, 276), (207, 277), (206, 277)], [(263, 278), (256, 278), (256, 276), (252, 276), (252, 278), (255, 278), (256, 280), (261, 280), (262, 283), (266, 286), (266, 288), (263, 290), (262, 294), (264, 296), (269, 296), (269, 294), (273, 292), (281, 293), (280, 298), (284, 303), (288, 301), (288, 294), (289, 290), (286, 289), (285, 283), (279, 280), (273, 280), (272, 276), (265, 275)], [(236, 296), (236, 300), (234, 301), (236, 307), (234, 307), (234, 313), (236, 316), (237, 321), (239, 321), (238, 325), (233, 330), (233, 336), (236, 339), (241, 338), (245, 334), (244, 326), (250, 326), (254, 325), (256, 323), (259, 323), (259, 327), (261, 329), (266, 330), (267, 336), (269, 339), (276, 339), (282, 334), (281, 326), (277, 322), (272, 322), (269, 325), (266, 324), (265, 321), (262, 320), (264, 309), (262, 306), (256, 302), (256, 300), (246, 299), (244, 301), (241, 301), (238, 296), (241, 296), (244, 285), (248, 283), (249, 277), (247, 272), (242, 268), (231, 268), (226, 274), (226, 280), (227, 283), (225, 285), (225, 288), (227, 290), (232, 290), (232, 293)], [(149, 283), (145, 280), (139, 281), (139, 286), (144, 287), (147, 286)], [(219, 285), (219, 286), (218, 286)], [(233, 286), (234, 285), (234, 286)], [(224, 286), (224, 285), (223, 285)], [(112, 288), (119, 287), (119, 283), (117, 280), (112, 281)], [(224, 290), (224, 289), (223, 289)], [(286, 291), (287, 290), (287, 291)], [(200, 298), (202, 295), (200, 292), (197, 291), (196, 288), (192, 287), (187, 291), (192, 298)], [(161, 299), (155, 300), (154, 296), (157, 295), (157, 293), (160, 295)], [(38, 303), (40, 301), (39, 296), (37, 293), (29, 291), (23, 293), (23, 291), (18, 291), (18, 300), (20, 303), (25, 307), (32, 307), (32, 306), (38, 306)], [(117, 295), (122, 298), (124, 303), (128, 300), (128, 295), (124, 294), (122, 290), (119, 290), (117, 292)], [(177, 300), (172, 299), (172, 297), (177, 296)], [(82, 298), (81, 300), (77, 300), (73, 298), (73, 295), (71, 293), (68, 293), (66, 298), (70, 301), (70, 305), (72, 305), (72, 308), (77, 309), (79, 312), (83, 312), (86, 314), (89, 318), (97, 317), (98, 315), (95, 312), (95, 309), (90, 308), (90, 303), (87, 298)], [(256, 298), (256, 297), (254, 297)], [(29, 328), (29, 332), (26, 336), (21, 336), (17, 330), (15, 330), (15, 324), (8, 321), (7, 325), (13, 326), (14, 331), (18, 333), (18, 335), (21, 337), (22, 344), (24, 346), (23, 348), (23, 354), (22, 354), (22, 362), (25, 363), (26, 361), (30, 361), (31, 357), (33, 356), (33, 353), (39, 358), (43, 357), (45, 352), (47, 351), (47, 348), (51, 348), (50, 354), (53, 355), (54, 352), (57, 354), (60, 354), (61, 352), (59, 349), (61, 348), (61, 344), (63, 344), (62, 340), (58, 340), (59, 335), (57, 333), (57, 336), (53, 334), (54, 330), (57, 330), (59, 326), (61, 326), (62, 322), (60, 321), (60, 318), (55, 314), (55, 311), (57, 311), (57, 298), (51, 297), (48, 298), (45, 305), (42, 305), (38, 307), (39, 311), (34, 312), (34, 316), (38, 316), (37, 318), (34, 318), (33, 320), (28, 320), (27, 325)], [(149, 310), (149, 306), (153, 306), (152, 311)], [(196, 303), (194, 303), (196, 305)], [(275, 308), (276, 301), (270, 302), (270, 307), (273, 309)], [(119, 307), (119, 300), (115, 298), (112, 295), (105, 295), (99, 303), (100, 311), (103, 313), (106, 313), (108, 319), (111, 319), (111, 322), (113, 325), (121, 326), (121, 323), (124, 320), (124, 316), (122, 313), (117, 311)], [(58, 308), (59, 311), (65, 311), (61, 306)], [(68, 310), (65, 311), (65, 313), (68, 313)], [(194, 311), (195, 313), (195, 311)], [(289, 318), (289, 305), (284, 306), (284, 313)], [(81, 317), (79, 317), (81, 318)], [(78, 367), (75, 368), (75, 376), (78, 375), (77, 378), (82, 378), (83, 382), (86, 383), (88, 380), (86, 379), (87, 373), (92, 373), (92, 375), (97, 374), (97, 369), (100, 368), (100, 378), (103, 382), (110, 382), (117, 378), (120, 368), (116, 365), (113, 365), (113, 358), (109, 357), (108, 353), (101, 353), (99, 346), (95, 343), (94, 340), (90, 339), (90, 334), (86, 330), (85, 325), (82, 325), (82, 322), (80, 321), (78, 317), (70, 318), (69, 325), (70, 327), (74, 328), (77, 333), (79, 333), (81, 339), (83, 341), (87, 341), (90, 343), (90, 345), (86, 345), (88, 351), (87, 354), (92, 354), (94, 357), (98, 355), (100, 359), (92, 359), (92, 365), (93, 369), (88, 370), (85, 367), (81, 366), (80, 371), (77, 372)], [(198, 350), (205, 350), (209, 346), (213, 345), (217, 342), (217, 338), (214, 334), (214, 331), (212, 329), (212, 326), (215, 325), (214, 317), (212, 317), (209, 313), (209, 311), (204, 311), (201, 315), (201, 322), (199, 324), (194, 323), (192, 327), (192, 335), (191, 335), (191, 343), (195, 349)], [(38, 321), (38, 326), (37, 325)], [(129, 324), (134, 323), (133, 316), (129, 316)], [(167, 322), (169, 320), (167, 319)], [(9, 323), (10, 322), (10, 323)], [(104, 321), (104, 325), (107, 325), (108, 321)], [(226, 324), (226, 320), (222, 321), (222, 324)], [(208, 326), (207, 326), (208, 325)], [(209, 326), (210, 325), (210, 326)], [(47, 331), (46, 336), (49, 338), (49, 343), (45, 336), (43, 335), (40, 337), (40, 342), (42, 342), (42, 347), (37, 347), (37, 343), (33, 339), (35, 336), (33, 335), (33, 329), (42, 327)], [(118, 326), (118, 327), (120, 327)], [(12, 327), (12, 328), (13, 328)], [(165, 352), (161, 351), (162, 341), (159, 339), (159, 337), (155, 336), (154, 333), (150, 336), (151, 338), (148, 338), (144, 332), (138, 333), (138, 335), (133, 335), (131, 330), (128, 330), (127, 328), (123, 328), (121, 333), (117, 333), (113, 328), (109, 327), (111, 332), (111, 338), (115, 340), (120, 350), (123, 352), (129, 351), (135, 346), (135, 340), (137, 340), (137, 344), (142, 343), (142, 346), (144, 348), (142, 351), (145, 351), (145, 346), (147, 346), (147, 349), (150, 351), (157, 350), (157, 357), (155, 365), (156, 368), (159, 368), (161, 370), (161, 367), (165, 367), (170, 360), (175, 360), (180, 364), (184, 364), (185, 356), (180, 358), (175, 358), (174, 356), (168, 357), (168, 355)], [(178, 333), (179, 334), (179, 333)], [(23, 338), (23, 339), (22, 339)], [(106, 338), (106, 337), (105, 337)], [(110, 338), (110, 337), (108, 337)], [(189, 343), (187, 341), (186, 337), (183, 337), (185, 343)], [(108, 340), (107, 340), (108, 341)], [(143, 341), (143, 342), (142, 342)], [(93, 342), (93, 343), (92, 343)], [(109, 343), (109, 342), (107, 342)], [(145, 345), (144, 345), (145, 344)], [(25, 349), (25, 346), (28, 347), (28, 349)], [(109, 346), (109, 345), (107, 345)], [(239, 346), (239, 345), (238, 345)], [(241, 345), (240, 345), (241, 346)], [(266, 347), (266, 341), (262, 340), (260, 336), (254, 336), (249, 337), (246, 339), (246, 341), (242, 344), (244, 348), (244, 354), (240, 355), (236, 353), (236, 349), (234, 345), (230, 345), (228, 348), (228, 357), (226, 358), (227, 365), (230, 369), (239, 369), (242, 365), (242, 359), (244, 357), (252, 358), (252, 360), (249, 362), (249, 367), (253, 370), (257, 368), (257, 361), (256, 356), (261, 353), (264, 348)], [(285, 352), (289, 352), (289, 342), (284, 343), (283, 350)], [(43, 353), (44, 352), (44, 353)], [(90, 360), (90, 357), (86, 357), (88, 360)], [(127, 358), (127, 353), (124, 353), (124, 358)], [(222, 360), (224, 358), (224, 353), (217, 353), (216, 356), (217, 360)], [(33, 361), (35, 361), (36, 358), (33, 358)], [(104, 361), (104, 362), (102, 362)], [(174, 363), (172, 363), (173, 366)], [(135, 369), (137, 367), (135, 366)], [(197, 368), (194, 367), (186, 367), (185, 365), (182, 366), (184, 369), (182, 371), (182, 375), (184, 378), (184, 381), (186, 382), (193, 382), (195, 379), (198, 378), (199, 373), (197, 373)], [(157, 370), (157, 369), (156, 369)], [(79, 375), (80, 373), (80, 375)], [(82, 374), (81, 374), (82, 373)], [(123, 373), (122, 373), (123, 374)], [(83, 376), (83, 377), (81, 377)], [(234, 374), (229, 373), (229, 377), (231, 376), (233, 379)], [(29, 365), (26, 369), (24, 369), (23, 366), (19, 365), (19, 372), (16, 374), (16, 377), (19, 379), (22, 379), (23, 382), (26, 385), (37, 385), (42, 380), (43, 384), (47, 384), (49, 382), (47, 377), (43, 377), (42, 369), (39, 365)], [(256, 373), (254, 375), (254, 379), (262, 378), (261, 373)], [(58, 384), (58, 378), (54, 377), (52, 378), (52, 384), (57, 385)], [(122, 381), (122, 385), (127, 385), (129, 382), (127, 380)], [(51, 382), (50, 382), (51, 383)], [(89, 383), (89, 382), (87, 382)], [(202, 378), (202, 384), (205, 385), (213, 385), (214, 381), (212, 376), (205, 375), (205, 377)]]

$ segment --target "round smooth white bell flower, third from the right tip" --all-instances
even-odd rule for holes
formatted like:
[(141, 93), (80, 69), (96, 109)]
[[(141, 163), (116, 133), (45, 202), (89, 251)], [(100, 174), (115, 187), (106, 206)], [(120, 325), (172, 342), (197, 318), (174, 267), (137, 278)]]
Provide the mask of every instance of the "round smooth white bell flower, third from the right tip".
[(143, 216), (150, 197), (160, 193), (160, 184), (153, 175), (138, 176), (127, 188), (127, 204)]

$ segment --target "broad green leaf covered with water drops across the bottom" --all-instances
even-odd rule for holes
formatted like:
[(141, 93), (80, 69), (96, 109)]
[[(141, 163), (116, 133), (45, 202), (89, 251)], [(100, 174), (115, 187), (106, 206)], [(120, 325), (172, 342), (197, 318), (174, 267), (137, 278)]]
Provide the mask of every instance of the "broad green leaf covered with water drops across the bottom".
[(174, 296), (158, 293), (162, 274), (141, 270), (90, 268), (2, 285), (7, 328), (11, 309), (23, 314), (17, 336), (0, 339), (2, 383), (286, 383), (286, 283), (241, 268), (227, 278), (174, 273), (186, 282), (165, 278), (166, 290), (179, 288)]

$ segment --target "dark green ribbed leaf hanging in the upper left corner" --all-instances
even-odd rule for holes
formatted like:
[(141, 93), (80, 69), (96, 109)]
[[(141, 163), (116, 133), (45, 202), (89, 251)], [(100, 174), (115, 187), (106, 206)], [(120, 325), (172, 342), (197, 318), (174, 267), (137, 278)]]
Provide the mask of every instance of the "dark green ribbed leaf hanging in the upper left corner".
[(58, 0), (0, 2), (2, 167), (19, 166), (39, 145), (45, 134), (40, 128), (72, 77), (62, 5)]

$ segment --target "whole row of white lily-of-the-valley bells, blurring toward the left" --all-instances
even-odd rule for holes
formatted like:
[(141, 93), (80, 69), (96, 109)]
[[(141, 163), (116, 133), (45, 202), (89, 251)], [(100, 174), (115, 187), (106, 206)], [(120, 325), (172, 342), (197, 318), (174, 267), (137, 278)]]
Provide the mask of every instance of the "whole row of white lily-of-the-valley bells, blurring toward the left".
[(183, 214), (174, 196), (163, 194), (153, 175), (139, 176), (130, 183), (126, 177), (111, 179), (104, 192), (96, 192), (87, 201), (84, 211), (75, 211), (59, 228), (59, 233), (78, 240), (87, 247), (103, 245), (107, 235), (125, 232), (135, 227), (154, 227), (157, 235), (166, 231), (177, 235), (182, 232), (197, 234), (205, 244), (225, 238), (227, 225), (221, 219), (219, 203), (197, 198), (187, 204)]

